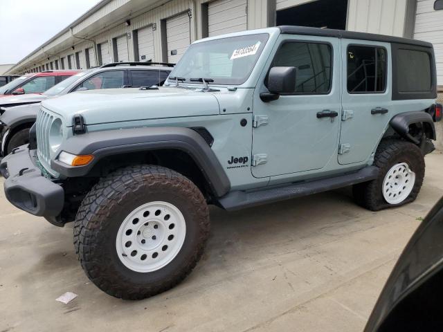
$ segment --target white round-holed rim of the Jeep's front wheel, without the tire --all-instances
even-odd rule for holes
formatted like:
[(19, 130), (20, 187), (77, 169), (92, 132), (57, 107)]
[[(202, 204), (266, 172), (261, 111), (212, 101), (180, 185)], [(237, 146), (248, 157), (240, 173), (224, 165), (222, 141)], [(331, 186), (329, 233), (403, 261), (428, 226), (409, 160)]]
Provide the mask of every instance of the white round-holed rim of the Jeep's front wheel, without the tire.
[(120, 225), (116, 250), (127, 268), (149, 273), (168, 265), (185, 237), (186, 222), (180, 210), (167, 202), (150, 202), (129, 213)]

